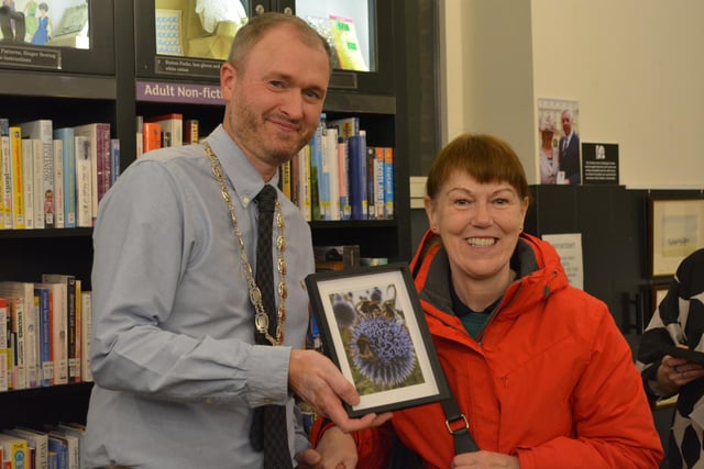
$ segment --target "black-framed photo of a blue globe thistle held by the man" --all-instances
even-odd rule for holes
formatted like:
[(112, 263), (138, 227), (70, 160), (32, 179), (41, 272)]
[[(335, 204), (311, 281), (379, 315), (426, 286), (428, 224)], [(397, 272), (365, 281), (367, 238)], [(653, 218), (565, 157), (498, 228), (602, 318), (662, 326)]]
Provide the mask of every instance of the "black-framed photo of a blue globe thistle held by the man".
[(323, 353), (360, 393), (350, 416), (449, 397), (405, 264), (317, 272), (306, 287)]

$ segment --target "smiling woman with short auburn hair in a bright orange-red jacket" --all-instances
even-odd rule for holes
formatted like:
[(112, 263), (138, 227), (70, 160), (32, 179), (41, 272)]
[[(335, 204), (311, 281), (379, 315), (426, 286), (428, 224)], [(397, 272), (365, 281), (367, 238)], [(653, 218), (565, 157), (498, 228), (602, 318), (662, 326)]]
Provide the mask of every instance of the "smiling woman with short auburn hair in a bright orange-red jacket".
[(455, 455), (436, 403), (353, 435), (317, 422), (321, 467), (388, 467), (398, 438), (426, 468), (657, 468), (660, 438), (612, 314), (522, 233), (530, 192), (515, 152), (461, 135), (433, 161), (427, 194), (411, 270), (480, 450)]

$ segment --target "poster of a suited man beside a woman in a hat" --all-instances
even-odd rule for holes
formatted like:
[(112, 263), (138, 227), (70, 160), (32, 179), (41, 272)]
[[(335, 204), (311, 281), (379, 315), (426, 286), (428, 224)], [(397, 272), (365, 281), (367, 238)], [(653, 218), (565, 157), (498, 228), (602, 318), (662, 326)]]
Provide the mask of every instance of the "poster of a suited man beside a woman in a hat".
[(579, 102), (538, 99), (538, 165), (541, 185), (582, 183)]

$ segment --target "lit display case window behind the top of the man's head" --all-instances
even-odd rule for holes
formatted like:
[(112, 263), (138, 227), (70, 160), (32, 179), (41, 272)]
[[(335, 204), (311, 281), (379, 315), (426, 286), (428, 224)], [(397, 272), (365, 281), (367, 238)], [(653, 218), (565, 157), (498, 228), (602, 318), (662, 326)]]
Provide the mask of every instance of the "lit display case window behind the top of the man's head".
[[(240, 0), (155, 0), (156, 54), (224, 60), (239, 27), (248, 21)], [(296, 14), (328, 40), (333, 68), (376, 71), (370, 0), (297, 0)]]

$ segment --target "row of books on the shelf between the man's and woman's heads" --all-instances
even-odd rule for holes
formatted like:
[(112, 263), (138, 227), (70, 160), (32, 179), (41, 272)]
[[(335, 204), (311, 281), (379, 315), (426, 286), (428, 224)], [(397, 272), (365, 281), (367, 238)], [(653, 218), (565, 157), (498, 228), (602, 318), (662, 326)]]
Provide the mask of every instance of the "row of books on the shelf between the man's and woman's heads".
[(370, 146), (359, 118), (327, 120), (283, 165), (282, 191), (308, 221), (394, 217), (394, 149)]

